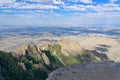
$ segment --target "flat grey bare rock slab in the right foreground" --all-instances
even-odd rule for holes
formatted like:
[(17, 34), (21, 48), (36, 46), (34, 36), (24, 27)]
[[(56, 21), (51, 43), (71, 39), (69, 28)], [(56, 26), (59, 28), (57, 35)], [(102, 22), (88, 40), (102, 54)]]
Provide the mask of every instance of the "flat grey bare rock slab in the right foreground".
[(120, 80), (120, 64), (114, 62), (74, 64), (53, 71), (47, 80)]

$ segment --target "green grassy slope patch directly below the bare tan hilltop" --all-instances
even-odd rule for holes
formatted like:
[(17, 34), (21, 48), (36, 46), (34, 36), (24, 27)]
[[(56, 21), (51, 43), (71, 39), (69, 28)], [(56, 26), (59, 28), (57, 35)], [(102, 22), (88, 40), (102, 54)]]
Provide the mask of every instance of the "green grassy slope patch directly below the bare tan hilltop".
[[(66, 64), (66, 65), (70, 65), (70, 64), (74, 64), (74, 63), (82, 63), (82, 59), (80, 56), (65, 56), (62, 52), (61, 52), (61, 46), (58, 44), (54, 44), (54, 45), (49, 45), (48, 50), (50, 51), (51, 55), (54, 57), (54, 59), (56, 60), (55, 63), (61, 65), (61, 66), (65, 66), (59, 59), (61, 58), (61, 60)], [(56, 52), (56, 55), (54, 55), (53, 53)]]

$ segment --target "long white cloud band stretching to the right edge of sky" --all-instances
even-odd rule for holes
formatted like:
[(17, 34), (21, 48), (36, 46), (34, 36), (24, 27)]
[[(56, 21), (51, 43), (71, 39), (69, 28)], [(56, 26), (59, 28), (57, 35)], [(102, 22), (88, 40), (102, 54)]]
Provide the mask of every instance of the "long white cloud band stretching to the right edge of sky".
[(63, 6), (66, 11), (120, 11), (120, 6), (114, 3), (100, 4), (100, 5), (73, 5), (73, 6)]

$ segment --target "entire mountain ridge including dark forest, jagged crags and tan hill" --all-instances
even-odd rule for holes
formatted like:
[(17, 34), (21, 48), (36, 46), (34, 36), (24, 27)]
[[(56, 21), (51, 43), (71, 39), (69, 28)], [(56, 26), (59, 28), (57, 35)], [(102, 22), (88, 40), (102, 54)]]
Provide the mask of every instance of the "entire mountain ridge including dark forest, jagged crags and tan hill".
[(60, 67), (107, 60), (105, 54), (85, 50), (79, 42), (73, 40), (64, 39), (55, 44), (48, 43), (40, 46), (28, 45), (12, 53), (0, 52), (0, 69), (5, 70), (1, 73), (6, 76), (2, 77), (0, 74), (0, 78), (5, 78), (5, 80), (14, 80), (14, 78), (16, 80), (45, 80), (50, 72)]

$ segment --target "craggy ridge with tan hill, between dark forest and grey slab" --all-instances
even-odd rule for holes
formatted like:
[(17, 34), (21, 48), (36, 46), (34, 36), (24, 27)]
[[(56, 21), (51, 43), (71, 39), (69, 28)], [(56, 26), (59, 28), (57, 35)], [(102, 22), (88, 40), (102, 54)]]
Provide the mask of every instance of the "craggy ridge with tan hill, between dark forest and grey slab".
[[(24, 61), (30, 64), (43, 64), (47, 68), (56, 69), (71, 64), (83, 62), (107, 61), (105, 54), (97, 51), (85, 50), (78, 41), (63, 39), (57, 43), (45, 43), (43, 45), (28, 45), (24, 48)], [(26, 60), (25, 60), (26, 59)]]

